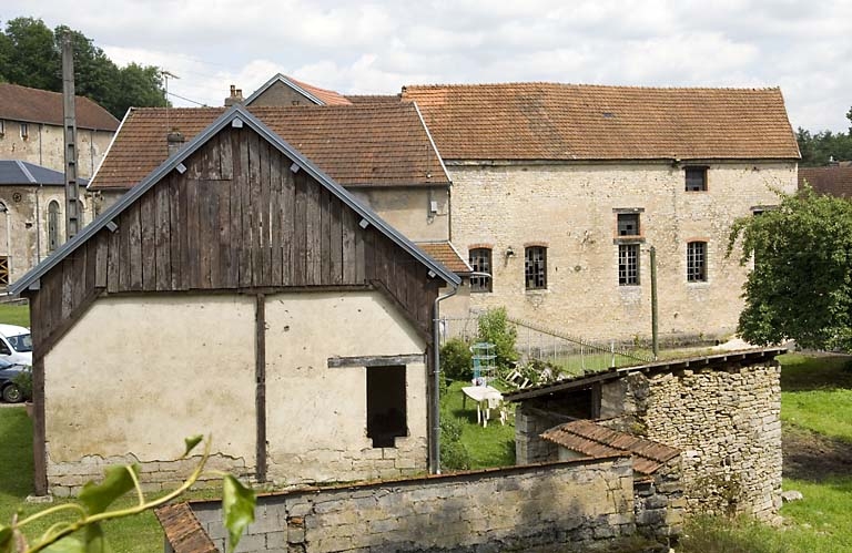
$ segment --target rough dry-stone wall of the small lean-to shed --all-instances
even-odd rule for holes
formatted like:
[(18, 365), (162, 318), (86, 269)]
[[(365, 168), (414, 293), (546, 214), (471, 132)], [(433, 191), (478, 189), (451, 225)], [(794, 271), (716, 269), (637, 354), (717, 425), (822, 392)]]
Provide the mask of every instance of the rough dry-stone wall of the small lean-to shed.
[[(781, 494), (781, 370), (777, 361), (721, 369), (633, 373), (625, 401), (601, 404), (601, 417), (683, 450), (682, 479), (692, 512), (777, 516)], [(611, 390), (610, 390), (611, 392)]]

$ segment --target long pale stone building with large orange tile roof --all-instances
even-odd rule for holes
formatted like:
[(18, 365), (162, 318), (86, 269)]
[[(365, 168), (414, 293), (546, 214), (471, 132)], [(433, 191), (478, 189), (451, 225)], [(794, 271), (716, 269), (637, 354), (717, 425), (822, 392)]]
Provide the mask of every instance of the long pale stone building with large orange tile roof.
[(514, 83), (405, 86), (453, 181), (470, 308), (587, 338), (726, 337), (748, 268), (737, 217), (794, 192), (799, 150), (778, 89)]

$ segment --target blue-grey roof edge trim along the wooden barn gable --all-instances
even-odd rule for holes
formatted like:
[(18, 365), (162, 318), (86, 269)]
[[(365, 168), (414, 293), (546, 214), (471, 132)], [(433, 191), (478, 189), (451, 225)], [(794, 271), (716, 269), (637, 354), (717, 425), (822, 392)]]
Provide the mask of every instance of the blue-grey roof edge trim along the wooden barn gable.
[(294, 160), (295, 166), (300, 171), (305, 171), (313, 178), (315, 178), (322, 186), (327, 188), (334, 196), (341, 199), (349, 208), (354, 209), (362, 218), (363, 225), (373, 225), (382, 234), (387, 236), (392, 242), (397, 244), (415, 259), (422, 263), (430, 274), (439, 277), (444, 281), (452, 286), (458, 286), (460, 278), (448, 270), (444, 265), (437, 263), (420, 248), (414, 245), (408, 238), (406, 238), (398, 231), (385, 223), (378, 215), (372, 209), (363, 205), (357, 198), (349, 194), (343, 186), (337, 184), (323, 171), (321, 171), (313, 162), (311, 162), (304, 154), (298, 152), (287, 142), (283, 141), (277, 134), (270, 130), (263, 122), (252, 115), (244, 106), (234, 105), (216, 119), (210, 126), (200, 132), (193, 140), (191, 140), (184, 147), (175, 155), (169, 157), (159, 167), (152, 171), (139, 185), (131, 188), (128, 193), (119, 198), (113, 205), (111, 205), (105, 212), (103, 212), (95, 221), (88, 226), (83, 227), (82, 232), (74, 236), (72, 239), (60, 246), (57, 252), (47, 257), (42, 263), (33, 267), (29, 273), (21, 277), (18, 281), (9, 287), (9, 293), (12, 295), (20, 294), (30, 286), (38, 287), (38, 280), (48, 273), (51, 268), (61, 263), (65, 257), (73, 253), (78, 247), (84, 244), (89, 238), (93, 237), (99, 231), (113, 224), (113, 218), (121, 214), (131, 204), (136, 202), (145, 192), (156, 185), (165, 175), (172, 171), (181, 171), (183, 162), (197, 150), (200, 150), (209, 140), (215, 136), (221, 130), (227, 125), (232, 126), (248, 126), (254, 130), (261, 137), (267, 141), (272, 146), (277, 149), (281, 153)]

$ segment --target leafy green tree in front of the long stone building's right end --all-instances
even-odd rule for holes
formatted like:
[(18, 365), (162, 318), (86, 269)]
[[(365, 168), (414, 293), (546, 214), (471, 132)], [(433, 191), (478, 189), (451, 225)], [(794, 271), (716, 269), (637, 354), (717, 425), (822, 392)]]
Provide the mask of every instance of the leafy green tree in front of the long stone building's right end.
[(778, 209), (738, 219), (744, 285), (739, 332), (752, 344), (792, 338), (801, 347), (852, 350), (852, 202), (811, 188), (782, 195)]

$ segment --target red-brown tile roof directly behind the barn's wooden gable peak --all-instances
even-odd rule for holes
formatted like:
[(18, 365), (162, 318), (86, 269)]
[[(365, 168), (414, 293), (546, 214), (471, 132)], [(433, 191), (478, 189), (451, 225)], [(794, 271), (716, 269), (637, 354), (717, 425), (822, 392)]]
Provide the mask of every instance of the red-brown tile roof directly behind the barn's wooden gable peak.
[[(449, 180), (412, 104), (248, 107), (266, 126), (344, 186), (446, 186)], [(133, 109), (92, 190), (126, 190), (168, 157), (169, 129), (192, 140), (224, 107)]]

